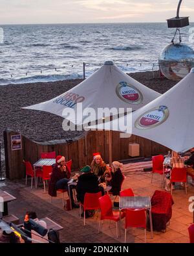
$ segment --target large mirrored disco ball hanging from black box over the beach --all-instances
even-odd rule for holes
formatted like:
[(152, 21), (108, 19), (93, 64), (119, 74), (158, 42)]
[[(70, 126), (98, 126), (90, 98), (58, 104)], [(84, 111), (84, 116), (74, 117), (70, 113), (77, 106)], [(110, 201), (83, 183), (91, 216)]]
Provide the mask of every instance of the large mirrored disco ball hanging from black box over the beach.
[(160, 53), (158, 64), (167, 79), (179, 81), (194, 67), (194, 51), (186, 44), (169, 44)]

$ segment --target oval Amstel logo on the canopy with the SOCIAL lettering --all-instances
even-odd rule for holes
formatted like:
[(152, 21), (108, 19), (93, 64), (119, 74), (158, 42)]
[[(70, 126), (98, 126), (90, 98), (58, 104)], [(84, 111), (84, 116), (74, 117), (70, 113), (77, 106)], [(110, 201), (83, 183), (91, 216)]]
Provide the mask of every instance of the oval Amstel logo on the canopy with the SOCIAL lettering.
[(120, 82), (116, 86), (116, 94), (122, 101), (132, 104), (139, 104), (143, 99), (142, 93), (135, 86), (127, 82)]

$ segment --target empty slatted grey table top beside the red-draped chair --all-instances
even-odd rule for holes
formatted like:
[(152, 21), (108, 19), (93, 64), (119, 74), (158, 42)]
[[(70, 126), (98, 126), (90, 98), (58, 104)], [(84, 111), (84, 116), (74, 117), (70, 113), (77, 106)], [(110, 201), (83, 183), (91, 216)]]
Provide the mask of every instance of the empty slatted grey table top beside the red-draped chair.
[(150, 209), (151, 201), (149, 196), (121, 196), (119, 201), (120, 209)]

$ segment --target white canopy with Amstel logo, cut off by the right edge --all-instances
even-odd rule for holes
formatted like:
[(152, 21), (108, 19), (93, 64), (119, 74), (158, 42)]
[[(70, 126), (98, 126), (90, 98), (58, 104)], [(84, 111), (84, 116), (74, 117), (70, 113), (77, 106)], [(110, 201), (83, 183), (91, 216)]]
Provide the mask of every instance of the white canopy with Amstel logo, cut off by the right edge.
[[(116, 122), (132, 118), (132, 134), (148, 138), (177, 152), (194, 147), (194, 69), (173, 88), (132, 114), (98, 129), (114, 129)], [(111, 126), (110, 126), (111, 125)], [(94, 128), (95, 126), (93, 126)]]

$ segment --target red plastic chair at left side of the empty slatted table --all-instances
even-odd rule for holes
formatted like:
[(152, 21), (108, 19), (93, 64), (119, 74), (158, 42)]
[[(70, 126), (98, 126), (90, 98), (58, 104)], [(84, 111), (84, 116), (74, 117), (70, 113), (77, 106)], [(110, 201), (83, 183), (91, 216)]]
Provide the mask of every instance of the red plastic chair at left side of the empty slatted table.
[(100, 216), (100, 224), (98, 228), (98, 233), (101, 229), (102, 220), (113, 220), (116, 222), (116, 237), (118, 238), (118, 225), (117, 222), (120, 220), (120, 218), (124, 218), (123, 212), (113, 211), (112, 202), (109, 198), (109, 195), (102, 196), (99, 198), (100, 203), (100, 210), (101, 210), (101, 216)]

